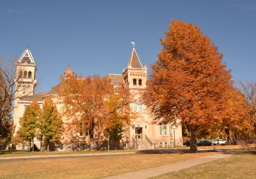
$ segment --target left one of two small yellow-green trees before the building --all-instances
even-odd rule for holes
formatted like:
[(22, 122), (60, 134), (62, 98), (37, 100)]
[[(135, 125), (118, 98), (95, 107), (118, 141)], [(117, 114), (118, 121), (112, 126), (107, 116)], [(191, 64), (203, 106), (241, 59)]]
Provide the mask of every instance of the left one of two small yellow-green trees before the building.
[(33, 100), (33, 102), (26, 108), (23, 117), (20, 119), (20, 128), (18, 134), (20, 138), (29, 141), (29, 146), (34, 152), (34, 139), (38, 136), (38, 121), (40, 121), (42, 109), (40, 105)]

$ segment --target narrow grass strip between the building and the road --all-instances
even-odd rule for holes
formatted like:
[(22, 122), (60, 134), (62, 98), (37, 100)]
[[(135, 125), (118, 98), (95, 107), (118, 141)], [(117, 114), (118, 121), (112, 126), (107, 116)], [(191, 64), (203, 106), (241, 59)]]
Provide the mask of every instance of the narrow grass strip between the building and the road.
[[(119, 153), (119, 152), (136, 152), (136, 150), (109, 150), (109, 153)], [(29, 152), (29, 151), (15, 151), (15, 152), (7, 152), (5, 151), (0, 157), (20, 157), (20, 156), (33, 156), (33, 155), (70, 155), (70, 154), (85, 154), (85, 153), (108, 153), (108, 150), (104, 151), (53, 151), (53, 152)]]

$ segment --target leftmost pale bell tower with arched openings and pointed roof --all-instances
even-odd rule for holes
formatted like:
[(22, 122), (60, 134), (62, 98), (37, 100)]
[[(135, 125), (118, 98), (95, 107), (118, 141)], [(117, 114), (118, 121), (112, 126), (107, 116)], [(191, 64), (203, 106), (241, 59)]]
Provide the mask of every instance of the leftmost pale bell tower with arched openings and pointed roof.
[(20, 97), (31, 96), (35, 94), (36, 86), (36, 62), (29, 51), (29, 47), (23, 52), (22, 56), (18, 59), (16, 65), (16, 84), (15, 84), (15, 104), (19, 101)]

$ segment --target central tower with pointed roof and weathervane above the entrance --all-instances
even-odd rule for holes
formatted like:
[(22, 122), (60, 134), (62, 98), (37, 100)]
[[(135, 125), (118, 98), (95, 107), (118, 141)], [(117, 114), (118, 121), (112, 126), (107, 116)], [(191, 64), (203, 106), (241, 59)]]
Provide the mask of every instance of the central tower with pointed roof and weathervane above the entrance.
[[(143, 139), (149, 134), (148, 112), (143, 104), (142, 92), (146, 88), (147, 82), (147, 66), (141, 65), (140, 58), (132, 42), (132, 53), (127, 64), (127, 68), (123, 70), (123, 78), (125, 85), (129, 88), (131, 97), (130, 109), (132, 113), (136, 113), (131, 119), (131, 127), (127, 131), (128, 140), (132, 141), (131, 137), (136, 136), (138, 139)], [(134, 138), (133, 138), (134, 139)]]

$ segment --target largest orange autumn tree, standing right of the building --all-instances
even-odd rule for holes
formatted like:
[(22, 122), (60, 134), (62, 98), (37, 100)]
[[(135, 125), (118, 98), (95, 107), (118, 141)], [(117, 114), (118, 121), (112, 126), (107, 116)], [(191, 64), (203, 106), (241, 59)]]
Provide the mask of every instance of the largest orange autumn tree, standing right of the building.
[(156, 121), (180, 123), (197, 152), (196, 132), (220, 120), (221, 105), (232, 84), (223, 57), (199, 27), (172, 20), (162, 51), (151, 66), (145, 103)]

